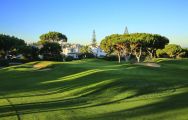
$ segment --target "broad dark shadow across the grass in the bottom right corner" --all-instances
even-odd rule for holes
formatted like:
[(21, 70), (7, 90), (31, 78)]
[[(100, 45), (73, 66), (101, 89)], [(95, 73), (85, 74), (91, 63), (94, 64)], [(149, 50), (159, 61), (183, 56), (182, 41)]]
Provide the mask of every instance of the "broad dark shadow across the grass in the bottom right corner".
[[(170, 112), (170, 111), (188, 108), (187, 101), (188, 101), (188, 91), (177, 94), (177, 95), (169, 96), (165, 100), (159, 101), (157, 103), (147, 104), (144, 106), (116, 111), (116, 112), (109, 112), (109, 113), (100, 114), (96, 116), (91, 116), (90, 120), (92, 119), (93, 120), (95, 119), (113, 120), (113, 119), (130, 119), (130, 118), (142, 119), (141, 117), (144, 117), (145, 119), (147, 119), (147, 116), (149, 115), (156, 115), (156, 114), (160, 114), (164, 112)], [(180, 115), (180, 116), (183, 116), (183, 115)], [(168, 117), (169, 116), (167, 116), (165, 119), (168, 119)], [(176, 119), (179, 119), (179, 118), (176, 118)]]

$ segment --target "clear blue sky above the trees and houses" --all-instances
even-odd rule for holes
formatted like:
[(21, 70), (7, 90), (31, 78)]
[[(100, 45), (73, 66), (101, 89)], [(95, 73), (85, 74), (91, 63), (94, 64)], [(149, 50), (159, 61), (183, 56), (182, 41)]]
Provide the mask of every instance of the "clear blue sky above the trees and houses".
[(111, 34), (153, 33), (188, 47), (188, 0), (0, 0), (0, 33), (27, 42), (57, 31), (89, 44)]

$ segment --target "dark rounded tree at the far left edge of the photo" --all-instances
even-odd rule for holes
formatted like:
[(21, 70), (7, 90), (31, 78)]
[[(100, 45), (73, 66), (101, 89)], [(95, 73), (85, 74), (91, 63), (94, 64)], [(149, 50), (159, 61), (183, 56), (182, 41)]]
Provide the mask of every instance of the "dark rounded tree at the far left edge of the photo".
[(0, 34), (0, 51), (4, 52), (4, 58), (7, 59), (12, 50), (18, 49), (20, 46), (25, 46), (24, 40), (14, 36)]

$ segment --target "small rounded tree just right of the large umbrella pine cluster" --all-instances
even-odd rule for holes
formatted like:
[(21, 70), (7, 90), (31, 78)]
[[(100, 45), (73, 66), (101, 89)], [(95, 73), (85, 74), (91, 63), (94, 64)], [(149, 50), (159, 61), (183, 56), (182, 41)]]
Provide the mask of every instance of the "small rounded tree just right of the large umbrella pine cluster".
[(169, 44), (164, 48), (164, 51), (169, 55), (169, 57), (172, 58), (177, 57), (182, 52), (182, 50), (183, 49), (181, 48), (181, 46), (176, 44)]

